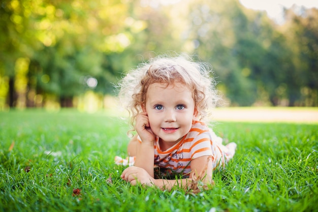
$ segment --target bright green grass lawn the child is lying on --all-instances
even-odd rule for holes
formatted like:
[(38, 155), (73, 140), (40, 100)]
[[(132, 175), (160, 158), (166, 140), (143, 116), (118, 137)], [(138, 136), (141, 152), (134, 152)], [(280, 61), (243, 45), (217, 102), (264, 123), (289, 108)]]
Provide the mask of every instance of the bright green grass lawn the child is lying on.
[(0, 112), (0, 211), (318, 211), (318, 125), (216, 125), (237, 153), (197, 195), (123, 181), (128, 129), (103, 112)]

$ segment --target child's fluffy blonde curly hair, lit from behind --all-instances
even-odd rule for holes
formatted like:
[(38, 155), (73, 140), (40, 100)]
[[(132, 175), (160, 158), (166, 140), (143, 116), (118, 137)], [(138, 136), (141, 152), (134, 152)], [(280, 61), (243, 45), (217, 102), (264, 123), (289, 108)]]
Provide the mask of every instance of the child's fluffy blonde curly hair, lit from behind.
[(136, 116), (142, 112), (141, 105), (146, 104), (149, 85), (158, 82), (167, 83), (168, 86), (179, 82), (193, 92), (198, 119), (203, 121), (219, 99), (212, 74), (206, 63), (194, 62), (184, 56), (157, 56), (140, 64), (119, 81), (119, 101), (129, 111), (135, 130)]

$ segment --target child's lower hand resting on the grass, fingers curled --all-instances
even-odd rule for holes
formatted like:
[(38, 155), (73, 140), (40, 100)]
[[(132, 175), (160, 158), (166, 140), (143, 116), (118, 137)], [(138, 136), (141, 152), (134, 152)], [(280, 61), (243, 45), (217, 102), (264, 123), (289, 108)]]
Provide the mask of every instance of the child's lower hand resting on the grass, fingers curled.
[(123, 170), (121, 176), (123, 180), (130, 182), (131, 185), (136, 186), (139, 182), (143, 186), (153, 186), (155, 179), (151, 177), (148, 172), (137, 166), (130, 166)]

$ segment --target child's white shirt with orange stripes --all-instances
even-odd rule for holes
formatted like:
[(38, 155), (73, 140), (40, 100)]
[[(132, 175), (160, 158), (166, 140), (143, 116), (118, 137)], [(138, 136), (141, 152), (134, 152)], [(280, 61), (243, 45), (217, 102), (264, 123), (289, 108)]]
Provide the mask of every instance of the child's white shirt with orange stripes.
[[(139, 142), (141, 142), (138, 136)], [(224, 153), (216, 142), (212, 141), (209, 128), (202, 122), (194, 121), (190, 131), (169, 149), (160, 149), (159, 138), (154, 142), (154, 165), (173, 172), (188, 175), (190, 162), (202, 156), (212, 156), (213, 168), (218, 162), (224, 163)]]

